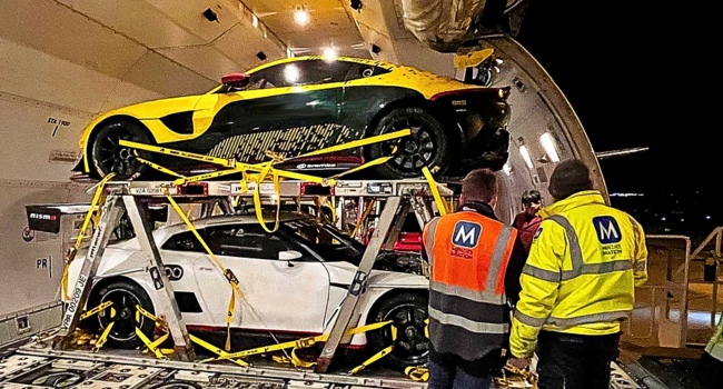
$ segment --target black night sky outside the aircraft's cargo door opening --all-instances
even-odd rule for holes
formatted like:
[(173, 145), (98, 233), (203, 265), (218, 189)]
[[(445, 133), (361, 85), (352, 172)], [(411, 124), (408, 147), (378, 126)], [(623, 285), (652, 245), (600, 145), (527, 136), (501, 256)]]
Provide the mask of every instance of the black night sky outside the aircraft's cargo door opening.
[[(571, 101), (596, 151), (651, 148), (601, 166), (611, 192), (645, 193), (647, 208), (657, 208), (651, 213), (680, 209), (674, 217), (689, 218), (689, 228), (667, 232), (686, 232), (692, 218), (706, 220), (703, 228), (723, 225), (713, 202), (720, 126), (702, 120), (720, 108), (701, 96), (720, 71), (705, 73), (692, 50), (692, 12), (648, 2), (532, 0), (517, 37)], [(628, 211), (644, 218), (642, 209)]]

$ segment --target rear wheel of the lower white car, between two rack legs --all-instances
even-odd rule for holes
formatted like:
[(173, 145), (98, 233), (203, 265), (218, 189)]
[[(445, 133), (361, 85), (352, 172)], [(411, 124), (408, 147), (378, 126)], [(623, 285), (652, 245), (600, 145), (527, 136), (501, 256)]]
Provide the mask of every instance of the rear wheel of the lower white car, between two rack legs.
[(95, 333), (102, 333), (111, 321), (113, 327), (108, 335), (108, 346), (119, 349), (135, 349), (143, 342), (136, 335), (138, 327), (149, 339), (152, 339), (156, 323), (145, 316), (140, 316), (140, 322), (136, 321), (136, 305), (156, 315), (153, 303), (148, 293), (139, 285), (132, 281), (113, 281), (100, 288), (95, 288), (88, 299), (88, 309), (98, 307), (106, 301), (112, 301), (111, 308), (115, 316), (111, 317), (111, 309), (108, 308), (89, 320), (88, 327)]

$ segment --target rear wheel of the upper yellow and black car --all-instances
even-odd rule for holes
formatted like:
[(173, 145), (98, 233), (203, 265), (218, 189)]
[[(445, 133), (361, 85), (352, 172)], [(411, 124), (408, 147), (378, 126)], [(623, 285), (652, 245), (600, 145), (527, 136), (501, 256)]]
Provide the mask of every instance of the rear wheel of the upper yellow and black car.
[(439, 167), (436, 174), (442, 174), (449, 167), (449, 134), (432, 113), (423, 108), (396, 108), (385, 114), (372, 130), (372, 136), (379, 136), (410, 129), (412, 136), (388, 142), (368, 146), (369, 160), (393, 154), (387, 163), (375, 167), (377, 173), (385, 178), (414, 178), (422, 176), (422, 168)]

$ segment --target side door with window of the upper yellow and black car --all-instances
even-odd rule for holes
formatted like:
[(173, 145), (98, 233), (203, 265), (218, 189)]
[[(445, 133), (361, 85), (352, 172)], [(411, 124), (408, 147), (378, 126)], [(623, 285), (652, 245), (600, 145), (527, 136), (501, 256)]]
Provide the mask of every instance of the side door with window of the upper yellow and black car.
[(273, 150), (301, 153), (335, 143), (347, 62), (303, 60), (251, 73), (249, 86), (204, 96), (194, 113), (198, 150), (257, 162)]

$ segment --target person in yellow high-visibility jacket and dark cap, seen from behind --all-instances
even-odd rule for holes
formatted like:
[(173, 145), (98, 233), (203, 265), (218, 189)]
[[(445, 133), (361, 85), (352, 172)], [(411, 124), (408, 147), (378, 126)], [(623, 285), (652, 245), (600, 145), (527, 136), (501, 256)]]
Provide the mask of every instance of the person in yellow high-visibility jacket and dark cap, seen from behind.
[(645, 236), (630, 215), (605, 205), (581, 161), (559, 163), (548, 190), (555, 202), (539, 212), (511, 351), (527, 358), (537, 349), (541, 389), (607, 389), (620, 322), (647, 280)]

